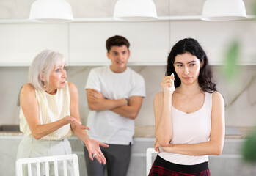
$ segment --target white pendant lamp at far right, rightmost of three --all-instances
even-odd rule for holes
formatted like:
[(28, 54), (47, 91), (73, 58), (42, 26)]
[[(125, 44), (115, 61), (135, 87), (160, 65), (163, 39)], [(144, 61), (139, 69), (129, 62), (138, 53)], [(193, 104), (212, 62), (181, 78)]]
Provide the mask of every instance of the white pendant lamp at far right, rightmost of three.
[(206, 0), (202, 8), (202, 20), (233, 21), (246, 18), (243, 0)]

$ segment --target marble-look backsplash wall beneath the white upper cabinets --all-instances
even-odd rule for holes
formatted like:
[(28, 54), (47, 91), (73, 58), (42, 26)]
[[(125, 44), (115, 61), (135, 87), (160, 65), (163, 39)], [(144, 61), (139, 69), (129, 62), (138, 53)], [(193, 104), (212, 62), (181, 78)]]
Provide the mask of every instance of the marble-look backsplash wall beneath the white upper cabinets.
[[(146, 98), (135, 120), (136, 126), (154, 125), (153, 98), (161, 91), (161, 80), (165, 66), (131, 66), (145, 78)], [(238, 78), (227, 81), (222, 75), (222, 66), (211, 66), (217, 89), (225, 100), (225, 120), (229, 126), (256, 125), (256, 66), (241, 66)], [(84, 86), (92, 67), (67, 67), (67, 81), (78, 87), (81, 120), (85, 124), (88, 114)], [(19, 124), (18, 95), (27, 82), (29, 67), (0, 67), (1, 100), (0, 125)]]

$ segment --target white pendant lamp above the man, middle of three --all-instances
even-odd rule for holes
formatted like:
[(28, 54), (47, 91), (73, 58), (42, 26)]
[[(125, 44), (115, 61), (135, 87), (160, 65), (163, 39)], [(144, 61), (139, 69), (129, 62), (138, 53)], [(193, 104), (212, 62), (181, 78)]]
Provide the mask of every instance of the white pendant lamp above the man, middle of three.
[(113, 19), (117, 21), (153, 21), (158, 19), (152, 0), (118, 0)]

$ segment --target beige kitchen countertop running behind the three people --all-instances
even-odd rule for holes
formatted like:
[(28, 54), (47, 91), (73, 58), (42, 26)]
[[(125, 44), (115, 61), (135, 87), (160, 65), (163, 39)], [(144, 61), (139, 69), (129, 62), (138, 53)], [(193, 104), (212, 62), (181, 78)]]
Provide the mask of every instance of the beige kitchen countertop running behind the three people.
[[(254, 127), (226, 127), (226, 139), (243, 139), (246, 138), (247, 134), (252, 131)], [(0, 131), (0, 136), (23, 136), (23, 133), (16, 131)], [(134, 138), (145, 137), (154, 138), (155, 137), (155, 126), (136, 126)]]

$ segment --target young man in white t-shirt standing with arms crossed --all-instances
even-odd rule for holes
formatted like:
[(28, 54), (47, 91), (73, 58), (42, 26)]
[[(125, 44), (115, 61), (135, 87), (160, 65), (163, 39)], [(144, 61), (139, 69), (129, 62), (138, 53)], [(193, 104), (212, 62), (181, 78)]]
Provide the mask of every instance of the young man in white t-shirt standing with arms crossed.
[[(144, 78), (126, 66), (130, 56), (129, 46), (128, 40), (122, 36), (106, 40), (106, 55), (111, 59), (111, 65), (92, 69), (85, 87), (90, 109), (87, 119), (87, 126), (91, 129), (89, 136), (109, 144), (106, 149), (101, 147), (109, 176), (127, 174), (134, 119), (145, 97)], [(98, 159), (103, 155), (100, 151), (88, 153), (84, 149), (87, 174), (103, 176), (105, 165), (89, 160), (89, 155)]]

